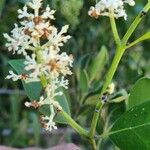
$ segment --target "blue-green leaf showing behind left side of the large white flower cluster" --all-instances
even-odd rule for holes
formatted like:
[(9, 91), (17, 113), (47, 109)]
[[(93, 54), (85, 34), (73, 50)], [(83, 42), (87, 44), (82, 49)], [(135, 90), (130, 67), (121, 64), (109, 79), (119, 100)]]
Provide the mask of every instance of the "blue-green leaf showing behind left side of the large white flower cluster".
[[(24, 69), (24, 59), (10, 60), (9, 64), (15, 69), (17, 74), (27, 73), (27, 71)], [(25, 83), (24, 81), (22, 81), (22, 84), (27, 96), (31, 101), (39, 100), (42, 91), (42, 85), (40, 82)]]

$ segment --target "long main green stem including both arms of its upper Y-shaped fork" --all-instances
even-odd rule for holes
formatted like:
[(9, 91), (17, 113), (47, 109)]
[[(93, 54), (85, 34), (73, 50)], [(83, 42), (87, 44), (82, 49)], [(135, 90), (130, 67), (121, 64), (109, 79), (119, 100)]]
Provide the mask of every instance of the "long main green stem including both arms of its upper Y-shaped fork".
[[(128, 41), (128, 39), (130, 38), (130, 36), (132, 35), (132, 33), (134, 32), (134, 30), (136, 29), (136, 27), (138, 26), (138, 24), (141, 22), (142, 18), (143, 18), (143, 12), (147, 12), (150, 9), (150, 2), (147, 3), (147, 5), (144, 7), (144, 9), (139, 13), (139, 15), (135, 18), (135, 20), (133, 21), (133, 23), (131, 24), (130, 28), (128, 29), (128, 31), (126, 32), (125, 36), (123, 37), (123, 39), (121, 40), (121, 42), (119, 41), (119, 35), (117, 32), (117, 28), (116, 28), (116, 24), (115, 24), (115, 20), (113, 17), (110, 17), (110, 22), (111, 22), (111, 27), (112, 27), (112, 32), (114, 35), (114, 39), (116, 41), (117, 44), (117, 52), (116, 55), (113, 59), (113, 62), (111, 64), (110, 69), (108, 70), (108, 73), (106, 75), (105, 78), (105, 82), (102, 88), (102, 91), (100, 93), (100, 98), (102, 97), (103, 93), (106, 91), (108, 85), (110, 84), (116, 70), (117, 67), (119, 65), (119, 62), (124, 54), (124, 51), (126, 50), (126, 43)], [(120, 43), (120, 44), (119, 44)], [(92, 138), (95, 134), (95, 130), (96, 130), (96, 126), (97, 126), (97, 122), (98, 122), (98, 118), (99, 118), (99, 114), (100, 114), (100, 110), (103, 107), (103, 104), (101, 104), (101, 100), (98, 101), (97, 105), (96, 105), (96, 109), (94, 112), (94, 116), (92, 119), (92, 123), (91, 123), (91, 129), (89, 131), (89, 136)]]

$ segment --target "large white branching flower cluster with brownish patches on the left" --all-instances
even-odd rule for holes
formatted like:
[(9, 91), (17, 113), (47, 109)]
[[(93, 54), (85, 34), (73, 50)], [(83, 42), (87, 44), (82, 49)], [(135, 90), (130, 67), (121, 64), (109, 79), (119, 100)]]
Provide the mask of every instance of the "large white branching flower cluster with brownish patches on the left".
[[(65, 35), (68, 25), (63, 26), (60, 31), (52, 25), (54, 20), (54, 10), (49, 6), (43, 13), (40, 13), (42, 0), (32, 0), (23, 9), (18, 10), (20, 25), (15, 24), (11, 31), (11, 36), (4, 34), (7, 39), (9, 51), (13, 54), (23, 54), (25, 57), (25, 70), (28, 74), (17, 75), (10, 71), (6, 79), (17, 81), (19, 79), (25, 82), (41, 81), (41, 77), (47, 81), (45, 88), (46, 94), (41, 96), (39, 101), (26, 102), (27, 107), (40, 107), (49, 104), (51, 115), (42, 117), (42, 123), (47, 130), (56, 129), (53, 118), (55, 116), (54, 108), (61, 110), (61, 106), (54, 100), (56, 96), (63, 93), (58, 92), (59, 87), (68, 88), (66, 75), (71, 75), (73, 57), (66, 52), (60, 52), (60, 47), (66, 43), (71, 36)], [(31, 13), (29, 10), (33, 10)]]

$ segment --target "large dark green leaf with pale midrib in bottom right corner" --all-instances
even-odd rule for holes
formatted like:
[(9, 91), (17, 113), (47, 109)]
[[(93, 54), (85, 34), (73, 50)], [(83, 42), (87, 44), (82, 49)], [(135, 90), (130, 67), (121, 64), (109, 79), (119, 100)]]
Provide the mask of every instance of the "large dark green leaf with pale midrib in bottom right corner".
[(150, 101), (134, 106), (122, 115), (108, 133), (121, 150), (150, 149)]

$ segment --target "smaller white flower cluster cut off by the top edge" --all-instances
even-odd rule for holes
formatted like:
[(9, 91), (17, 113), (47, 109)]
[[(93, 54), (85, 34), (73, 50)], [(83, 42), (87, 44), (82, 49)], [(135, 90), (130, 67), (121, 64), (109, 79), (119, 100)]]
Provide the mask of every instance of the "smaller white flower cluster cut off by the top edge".
[(92, 17), (98, 18), (99, 16), (113, 16), (115, 18), (124, 17), (127, 19), (127, 14), (124, 9), (124, 4), (130, 6), (135, 5), (134, 0), (100, 0), (95, 7), (91, 7), (88, 14)]

